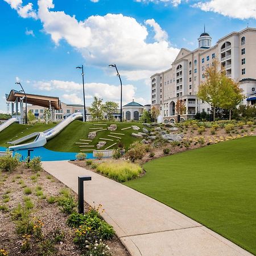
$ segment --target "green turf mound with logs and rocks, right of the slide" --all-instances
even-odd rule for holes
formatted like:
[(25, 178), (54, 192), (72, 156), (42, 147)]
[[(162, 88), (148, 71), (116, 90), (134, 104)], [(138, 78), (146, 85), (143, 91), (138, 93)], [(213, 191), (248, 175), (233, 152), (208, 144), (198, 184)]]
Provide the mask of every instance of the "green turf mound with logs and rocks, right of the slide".
[[(96, 149), (96, 144), (99, 141), (104, 141), (100, 138), (109, 138), (113, 139), (114, 141), (107, 141), (106, 145), (101, 148), (101, 150), (104, 150), (106, 147), (114, 144), (115, 142), (122, 142), (125, 148), (127, 149), (131, 143), (134, 141), (137, 141), (138, 139), (131, 137), (131, 133), (138, 133), (138, 131), (134, 131), (133, 129), (127, 129), (127, 130), (121, 130), (122, 128), (125, 127), (131, 127), (132, 125), (137, 125), (139, 127), (142, 127), (142, 123), (117, 123), (117, 122), (112, 122), (112, 123), (106, 123), (108, 126), (111, 124), (116, 124), (117, 125), (117, 130), (116, 131), (99, 131), (97, 133), (97, 137), (92, 140), (92, 142), (88, 142), (89, 145), (95, 146)], [(89, 128), (96, 128), (96, 127), (103, 127), (104, 129), (107, 129), (108, 126), (95, 126), (95, 123), (92, 122), (81, 122), (81, 121), (73, 121), (69, 126), (65, 127), (63, 131), (61, 131), (60, 134), (58, 134), (55, 138), (51, 139), (51, 141), (47, 142), (46, 148), (49, 150), (53, 151), (64, 151), (64, 152), (80, 152), (81, 149), (89, 149), (88, 147), (79, 147), (82, 146), (81, 144), (76, 144), (76, 142), (85, 142), (85, 141), (80, 141), (80, 139), (88, 139), (88, 134), (90, 131), (94, 130), (89, 130)], [(97, 123), (99, 124), (99, 123)], [(111, 133), (122, 133), (125, 135), (116, 135), (116, 134), (110, 134)], [(116, 139), (116, 138), (111, 138), (108, 137), (107, 135), (113, 135), (117, 136), (122, 139)], [(86, 142), (85, 142), (86, 143)], [(111, 147), (109, 149), (114, 149), (117, 148), (117, 145), (114, 147)], [(90, 152), (90, 151), (85, 151)]]

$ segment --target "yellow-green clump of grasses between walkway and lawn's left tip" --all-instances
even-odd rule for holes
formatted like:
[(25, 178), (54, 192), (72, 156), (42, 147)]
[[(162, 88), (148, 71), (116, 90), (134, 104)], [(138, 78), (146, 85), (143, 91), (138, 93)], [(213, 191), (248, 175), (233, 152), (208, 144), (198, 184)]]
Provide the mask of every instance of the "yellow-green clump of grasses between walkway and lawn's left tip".
[(142, 173), (141, 166), (125, 160), (109, 160), (99, 164), (96, 170), (119, 182), (134, 179)]

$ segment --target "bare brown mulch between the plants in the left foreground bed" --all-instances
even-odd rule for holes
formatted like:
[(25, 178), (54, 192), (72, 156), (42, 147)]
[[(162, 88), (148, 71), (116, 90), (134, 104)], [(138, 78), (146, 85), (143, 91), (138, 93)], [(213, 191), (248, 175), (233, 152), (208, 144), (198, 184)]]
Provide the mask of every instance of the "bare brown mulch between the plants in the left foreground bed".
[[(18, 206), (18, 204), (24, 204), (23, 197), (30, 197), (34, 203), (32, 209), (32, 217), (43, 222), (43, 234), (47, 237), (56, 228), (61, 229), (65, 233), (63, 242), (59, 242), (57, 247), (57, 253), (55, 255), (81, 255), (77, 246), (73, 243), (74, 230), (69, 228), (65, 223), (67, 221), (67, 215), (60, 212), (59, 207), (56, 203), (49, 204), (47, 199), (41, 199), (35, 195), (35, 187), (40, 185), (42, 187), (43, 195), (47, 198), (49, 196), (58, 196), (61, 188), (67, 188), (63, 183), (56, 180), (53, 176), (48, 175), (44, 171), (38, 172), (36, 179), (32, 180), (31, 176), (36, 176), (35, 172), (32, 172), (26, 168), (19, 167), (18, 170), (9, 174), (2, 172), (0, 176), (0, 205), (6, 205), (9, 208), (8, 212), (0, 210), (0, 249), (4, 248), (9, 252), (9, 255), (30, 255), (37, 256), (38, 254), (38, 243), (31, 239), (31, 249), (26, 253), (20, 251), (22, 244), (22, 236), (18, 236), (15, 233), (15, 223), (11, 220), (11, 210)], [(24, 183), (19, 184), (23, 180)], [(25, 184), (27, 187), (32, 189), (31, 195), (24, 195), (22, 185)], [(24, 186), (24, 185), (23, 185)], [(3, 203), (3, 197), (8, 193), (10, 200), (7, 203)], [(72, 195), (77, 198), (77, 195), (72, 192)], [(85, 203), (85, 210), (89, 209), (89, 205)], [(129, 256), (122, 243), (117, 237), (107, 242), (112, 255), (114, 256)]]

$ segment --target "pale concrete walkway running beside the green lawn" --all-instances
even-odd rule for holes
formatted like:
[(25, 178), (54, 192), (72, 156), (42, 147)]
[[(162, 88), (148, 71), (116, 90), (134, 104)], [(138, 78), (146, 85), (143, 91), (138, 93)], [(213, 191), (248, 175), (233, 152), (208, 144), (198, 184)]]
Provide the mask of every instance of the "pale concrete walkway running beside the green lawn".
[(133, 256), (251, 255), (191, 218), (104, 176), (67, 161), (43, 162), (43, 168), (75, 192), (78, 176), (92, 176), (84, 183), (85, 201), (103, 205), (102, 217)]

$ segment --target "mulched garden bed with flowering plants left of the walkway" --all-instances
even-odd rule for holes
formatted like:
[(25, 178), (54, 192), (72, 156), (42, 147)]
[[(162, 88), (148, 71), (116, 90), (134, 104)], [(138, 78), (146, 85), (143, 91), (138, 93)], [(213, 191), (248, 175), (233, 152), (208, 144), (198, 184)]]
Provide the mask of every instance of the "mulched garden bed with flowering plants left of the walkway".
[(0, 255), (129, 255), (101, 219), (104, 206), (85, 203), (85, 215), (78, 214), (76, 193), (39, 169), (37, 159), (1, 171)]

